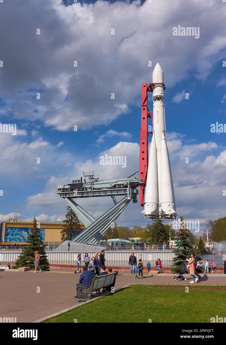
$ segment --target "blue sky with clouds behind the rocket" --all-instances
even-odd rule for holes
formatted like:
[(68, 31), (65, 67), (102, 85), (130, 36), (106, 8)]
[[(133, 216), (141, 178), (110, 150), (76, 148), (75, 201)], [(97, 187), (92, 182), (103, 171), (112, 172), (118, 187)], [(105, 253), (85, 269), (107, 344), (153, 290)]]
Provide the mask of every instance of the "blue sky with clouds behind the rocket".
[[(177, 213), (199, 220), (202, 231), (208, 218), (225, 216), (226, 134), (211, 133), (210, 125), (226, 123), (226, 4), (71, 3), (0, 4), (0, 122), (18, 129), (16, 136), (0, 133), (0, 221), (9, 214), (58, 221), (66, 210), (54, 192), (58, 184), (83, 170), (100, 179), (138, 170), (141, 83), (152, 82), (159, 62)], [(200, 38), (174, 37), (178, 25), (200, 27)], [(126, 155), (127, 167), (101, 166), (104, 153)], [(81, 205), (98, 217), (112, 206), (111, 198), (100, 199)], [(131, 203), (117, 223), (145, 226), (141, 211)]]

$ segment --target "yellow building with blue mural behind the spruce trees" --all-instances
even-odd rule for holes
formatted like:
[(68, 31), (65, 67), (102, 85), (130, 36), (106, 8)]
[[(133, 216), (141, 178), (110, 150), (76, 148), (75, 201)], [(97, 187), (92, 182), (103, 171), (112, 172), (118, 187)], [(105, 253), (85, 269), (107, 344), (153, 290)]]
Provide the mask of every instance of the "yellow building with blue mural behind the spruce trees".
[[(42, 235), (44, 245), (61, 244), (61, 230), (64, 223), (37, 223)], [(85, 226), (80, 223), (81, 229)], [(0, 245), (24, 245), (27, 244), (27, 237), (33, 227), (32, 221), (3, 221), (0, 224)]]

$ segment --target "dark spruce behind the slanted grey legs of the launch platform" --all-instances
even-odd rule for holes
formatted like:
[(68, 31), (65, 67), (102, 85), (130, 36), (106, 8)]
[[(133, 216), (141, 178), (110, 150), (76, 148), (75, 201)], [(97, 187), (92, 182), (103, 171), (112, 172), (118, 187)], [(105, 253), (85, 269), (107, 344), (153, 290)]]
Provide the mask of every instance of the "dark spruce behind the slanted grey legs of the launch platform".
[(70, 206), (67, 206), (66, 219), (63, 220), (63, 228), (61, 230), (61, 241), (71, 241), (76, 235), (81, 233), (81, 225), (76, 213)]

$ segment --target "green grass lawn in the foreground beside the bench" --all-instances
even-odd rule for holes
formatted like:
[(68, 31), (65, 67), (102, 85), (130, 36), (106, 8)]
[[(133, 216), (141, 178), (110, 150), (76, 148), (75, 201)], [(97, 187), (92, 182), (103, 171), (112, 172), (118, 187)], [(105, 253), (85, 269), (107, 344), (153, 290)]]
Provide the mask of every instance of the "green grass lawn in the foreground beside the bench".
[(225, 316), (226, 286), (133, 285), (44, 322), (210, 322)]

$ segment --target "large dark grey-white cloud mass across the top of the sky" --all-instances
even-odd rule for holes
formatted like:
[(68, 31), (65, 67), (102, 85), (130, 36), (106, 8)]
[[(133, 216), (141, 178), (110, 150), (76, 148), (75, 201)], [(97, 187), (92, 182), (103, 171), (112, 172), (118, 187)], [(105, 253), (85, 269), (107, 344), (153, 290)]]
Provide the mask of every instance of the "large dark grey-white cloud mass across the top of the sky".
[[(1, 112), (12, 112), (18, 119), (38, 119), (59, 131), (73, 130), (74, 125), (89, 129), (109, 125), (132, 105), (139, 105), (141, 83), (152, 80), (149, 60), (153, 67), (160, 62), (166, 85), (188, 76), (205, 80), (226, 47), (225, 11), (220, 2), (196, 0), (184, 2), (181, 9), (181, 0), (145, 1), (142, 6), (140, 1), (70, 6), (63, 6), (62, 0), (45, 1), (42, 6), (38, 2), (25, 6), (22, 0), (13, 6), (6, 2), (2, 26), (6, 32), (20, 27), (20, 40), (9, 35), (2, 42), (10, 69), (2, 69), (1, 97), (6, 105)], [(10, 24), (9, 16), (14, 19)], [(211, 27), (206, 21), (209, 17)], [(33, 39), (37, 18), (42, 30)], [(181, 23), (198, 23), (200, 38), (173, 36), (173, 27)], [(22, 52), (16, 61), (14, 51)], [(75, 60), (78, 67), (73, 66)], [(36, 89), (44, 90), (40, 100), (34, 99)], [(182, 97), (179, 92), (174, 101)]]

